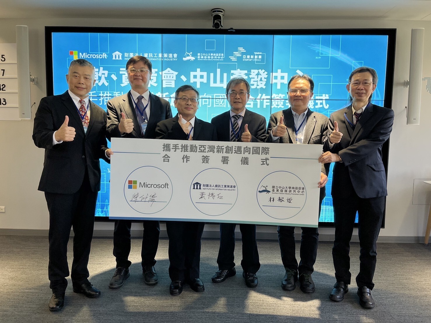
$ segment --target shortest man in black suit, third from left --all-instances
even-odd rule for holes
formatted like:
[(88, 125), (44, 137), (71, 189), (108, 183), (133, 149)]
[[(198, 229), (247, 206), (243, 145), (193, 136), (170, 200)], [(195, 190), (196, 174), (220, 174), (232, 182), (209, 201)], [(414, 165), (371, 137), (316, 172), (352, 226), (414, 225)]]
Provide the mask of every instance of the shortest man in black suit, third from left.
[[(195, 117), (199, 105), (199, 92), (191, 85), (183, 85), (175, 92), (178, 115), (160, 121), (156, 127), (157, 139), (217, 140), (215, 127)], [(195, 292), (205, 287), (199, 278), (200, 239), (203, 222), (166, 221), (169, 236), (169, 286), (171, 295), (180, 295), (187, 282)]]

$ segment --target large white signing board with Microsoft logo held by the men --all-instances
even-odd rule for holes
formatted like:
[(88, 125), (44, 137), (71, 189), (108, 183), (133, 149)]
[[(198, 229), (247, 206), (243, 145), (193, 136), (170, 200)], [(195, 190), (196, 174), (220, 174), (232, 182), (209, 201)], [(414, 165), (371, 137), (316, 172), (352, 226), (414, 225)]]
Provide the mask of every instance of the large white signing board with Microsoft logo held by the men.
[(112, 138), (109, 218), (317, 227), (321, 145)]

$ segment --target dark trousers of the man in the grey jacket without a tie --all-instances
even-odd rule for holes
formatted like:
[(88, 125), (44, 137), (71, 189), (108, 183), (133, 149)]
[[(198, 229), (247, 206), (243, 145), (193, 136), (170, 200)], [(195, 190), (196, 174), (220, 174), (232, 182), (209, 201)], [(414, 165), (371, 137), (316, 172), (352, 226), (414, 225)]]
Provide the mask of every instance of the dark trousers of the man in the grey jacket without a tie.
[[(319, 215), (322, 199), (319, 201)], [(280, 245), (281, 261), (286, 269), (296, 270), (299, 274), (312, 274), (317, 257), (319, 244), (318, 228), (301, 227), (300, 263), (295, 256), (295, 227), (278, 226), (278, 244)]]

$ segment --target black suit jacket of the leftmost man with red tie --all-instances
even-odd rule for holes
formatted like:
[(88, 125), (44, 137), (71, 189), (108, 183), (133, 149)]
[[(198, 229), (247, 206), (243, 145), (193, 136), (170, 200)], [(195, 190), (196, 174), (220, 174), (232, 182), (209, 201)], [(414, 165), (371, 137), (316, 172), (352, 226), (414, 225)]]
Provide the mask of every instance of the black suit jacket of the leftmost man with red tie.
[[(84, 133), (78, 109), (66, 91), (61, 95), (41, 99), (34, 117), (33, 141), (45, 149), (44, 169), (38, 189), (48, 193), (73, 194), (78, 192), (88, 171), (91, 190), (100, 190), (100, 162), (106, 162), (106, 113), (90, 101), (90, 122)], [(53, 146), (53, 133), (69, 116), (69, 127), (75, 128), (73, 141)]]

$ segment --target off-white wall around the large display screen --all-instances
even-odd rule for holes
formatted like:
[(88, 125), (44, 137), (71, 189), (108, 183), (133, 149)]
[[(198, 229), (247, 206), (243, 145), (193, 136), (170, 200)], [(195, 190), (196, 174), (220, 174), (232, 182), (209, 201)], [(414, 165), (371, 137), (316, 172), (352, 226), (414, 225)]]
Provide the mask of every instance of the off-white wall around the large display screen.
[[(209, 28), (206, 20), (128, 20), (128, 19), (0, 19), (0, 43), (16, 42), (16, 25), (28, 25), (30, 39), (30, 70), (38, 84), (31, 85), (31, 100), (36, 102), (32, 116), (42, 97), (46, 96), (44, 26), (104, 26), (104, 27), (162, 27)], [(230, 21), (233, 28), (397, 28), (394, 94), (392, 109), (395, 122), (390, 137), (388, 197), (386, 227), (380, 236), (418, 237), (425, 235), (428, 217), (427, 205), (412, 205), (414, 178), (431, 178), (431, 94), (422, 89), (420, 125), (406, 125), (405, 106), (407, 89), (403, 81), (409, 78), (409, 50), (411, 28), (425, 28), (425, 60), (423, 77), (431, 77), (431, 21)], [(373, 50), (367, 44), (358, 44), (357, 50)], [(49, 216), (44, 193), (37, 185), (44, 161), (44, 150), (34, 146), (31, 139), (33, 120), (0, 121), (0, 229), (47, 230)], [(111, 223), (96, 223), (96, 230), (112, 229)], [(135, 229), (139, 225), (135, 225)], [(217, 230), (215, 225), (207, 230)], [(275, 232), (273, 227), (260, 227), (261, 232)], [(322, 228), (321, 234), (333, 234), (331, 228)], [(355, 232), (357, 233), (357, 232)], [(397, 240), (397, 239), (396, 239)]]

